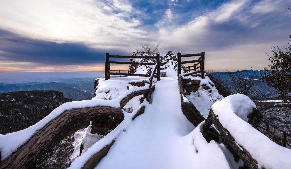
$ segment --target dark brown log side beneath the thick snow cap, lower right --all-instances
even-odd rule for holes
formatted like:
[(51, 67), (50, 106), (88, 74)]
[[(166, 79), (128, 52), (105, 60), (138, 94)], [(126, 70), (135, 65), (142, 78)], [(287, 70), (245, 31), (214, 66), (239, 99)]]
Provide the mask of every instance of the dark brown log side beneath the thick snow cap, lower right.
[(222, 124), (217, 118), (217, 115), (214, 114), (212, 109), (210, 109), (210, 115), (214, 126), (218, 129), (227, 144), (232, 147), (233, 151), (239, 156), (240, 159), (242, 159), (242, 161), (244, 161), (244, 164), (249, 168), (258, 168), (258, 162), (253, 159), (251, 154), (244, 147), (242, 147), (235, 141), (235, 139), (227, 129), (223, 128)]

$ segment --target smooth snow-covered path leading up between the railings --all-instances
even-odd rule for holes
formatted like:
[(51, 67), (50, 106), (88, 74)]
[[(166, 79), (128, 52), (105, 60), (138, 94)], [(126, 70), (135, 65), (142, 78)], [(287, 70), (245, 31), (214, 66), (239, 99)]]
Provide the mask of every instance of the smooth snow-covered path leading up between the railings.
[(152, 99), (95, 168), (229, 168), (223, 147), (196, 142), (196, 129), (181, 110), (177, 77), (157, 82)]

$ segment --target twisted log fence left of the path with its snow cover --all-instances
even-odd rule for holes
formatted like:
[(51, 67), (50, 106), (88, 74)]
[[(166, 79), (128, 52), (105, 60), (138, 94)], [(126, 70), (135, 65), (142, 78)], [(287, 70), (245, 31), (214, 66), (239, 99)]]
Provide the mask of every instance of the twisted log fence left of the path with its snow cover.
[[(157, 64), (155, 67), (158, 67)], [(133, 86), (123, 96), (117, 99), (93, 99), (67, 102), (54, 109), (47, 117), (29, 128), (6, 135), (0, 134), (0, 168), (29, 168), (33, 164), (33, 161), (40, 157), (44, 150), (51, 144), (51, 141), (57, 135), (58, 131), (65, 125), (76, 122), (77, 120), (108, 115), (119, 119), (121, 124), (125, 119), (125, 112), (122, 111), (122, 108), (130, 99), (139, 95), (145, 95), (145, 98), (148, 101), (150, 100), (150, 95), (154, 89), (154, 86), (152, 86), (153, 74), (149, 79), (150, 84), (145, 84), (142, 87)], [(145, 106), (141, 105), (135, 113), (133, 112), (134, 116), (132, 115), (130, 119), (134, 120), (144, 110)], [(114, 143), (114, 139), (118, 135), (116, 133), (118, 132), (115, 131), (111, 134), (115, 135), (109, 137), (111, 140), (109, 140), (108, 144), (107, 142), (104, 143), (100, 150), (88, 156), (80, 168), (94, 168)]]

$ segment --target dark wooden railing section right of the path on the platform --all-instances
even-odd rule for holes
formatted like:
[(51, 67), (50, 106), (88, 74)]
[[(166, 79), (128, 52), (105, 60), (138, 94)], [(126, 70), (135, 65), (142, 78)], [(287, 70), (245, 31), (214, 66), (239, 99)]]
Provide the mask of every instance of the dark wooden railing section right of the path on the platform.
[[(182, 57), (193, 57), (193, 56), (200, 56), (198, 58), (198, 60), (191, 60), (191, 61), (181, 61)], [(182, 64), (187, 64), (187, 63), (195, 63), (192, 66), (188, 66), (188, 73), (185, 73), (184, 76), (190, 76), (193, 74), (197, 74), (197, 73), (201, 73), (201, 78), (204, 79), (205, 75), (205, 69), (204, 69), (204, 64), (205, 64), (205, 52), (201, 52), (199, 54), (184, 54), (181, 55), (180, 52), (178, 52), (177, 54), (178, 57), (178, 76), (181, 74), (181, 65)], [(192, 67), (194, 67), (193, 69), (191, 69)], [(198, 70), (200, 69), (200, 70)], [(192, 70), (194, 70), (194, 72), (191, 72)]]

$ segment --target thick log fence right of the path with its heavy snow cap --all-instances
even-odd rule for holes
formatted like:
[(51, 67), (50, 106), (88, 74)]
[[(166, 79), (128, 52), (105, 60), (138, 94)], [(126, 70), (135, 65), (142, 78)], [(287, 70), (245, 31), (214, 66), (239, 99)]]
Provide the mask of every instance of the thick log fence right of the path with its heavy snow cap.
[(256, 129), (262, 115), (251, 99), (242, 94), (225, 97), (213, 104), (203, 124), (203, 136), (212, 123), (236, 160), (249, 168), (290, 168), (291, 150), (282, 147)]

